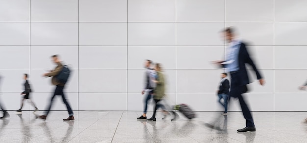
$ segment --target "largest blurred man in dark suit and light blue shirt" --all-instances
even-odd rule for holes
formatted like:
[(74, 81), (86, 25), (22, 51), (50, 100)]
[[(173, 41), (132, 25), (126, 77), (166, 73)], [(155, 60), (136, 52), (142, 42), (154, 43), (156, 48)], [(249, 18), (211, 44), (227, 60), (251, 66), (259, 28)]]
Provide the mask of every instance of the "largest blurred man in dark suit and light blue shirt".
[(230, 72), (231, 87), (229, 98), (233, 97), (239, 99), (243, 116), (246, 119), (246, 127), (237, 131), (256, 131), (252, 114), (241, 95), (248, 91), (247, 84), (250, 83), (245, 64), (247, 63), (253, 68), (260, 85), (264, 85), (265, 81), (251, 59), (245, 44), (241, 40), (235, 39), (232, 28), (226, 28), (223, 34), (225, 36), (225, 41), (230, 43), (230, 46), (227, 48), (228, 54), (226, 55), (226, 61), (215, 61), (215, 63), (227, 68), (227, 71)]

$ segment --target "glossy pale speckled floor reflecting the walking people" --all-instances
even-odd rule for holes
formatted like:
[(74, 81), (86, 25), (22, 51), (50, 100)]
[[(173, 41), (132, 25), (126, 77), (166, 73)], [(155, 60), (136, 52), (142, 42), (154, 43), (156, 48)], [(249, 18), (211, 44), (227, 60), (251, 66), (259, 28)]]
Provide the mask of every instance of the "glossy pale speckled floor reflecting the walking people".
[(141, 112), (76, 111), (75, 121), (62, 121), (64, 111), (51, 112), (46, 121), (30, 111), (9, 113), (0, 120), (0, 143), (307, 143), (307, 112), (253, 112), (256, 132), (247, 133), (236, 132), (245, 126), (241, 112), (197, 112), (191, 121), (177, 112), (173, 122), (162, 113), (156, 122), (137, 120)]

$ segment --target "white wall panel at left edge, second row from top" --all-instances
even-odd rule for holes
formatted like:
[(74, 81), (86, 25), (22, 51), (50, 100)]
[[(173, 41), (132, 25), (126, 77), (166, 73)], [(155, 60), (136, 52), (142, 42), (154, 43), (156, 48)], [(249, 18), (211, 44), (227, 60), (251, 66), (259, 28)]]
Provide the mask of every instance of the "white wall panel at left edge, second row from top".
[(30, 45), (30, 23), (0, 23), (0, 45)]

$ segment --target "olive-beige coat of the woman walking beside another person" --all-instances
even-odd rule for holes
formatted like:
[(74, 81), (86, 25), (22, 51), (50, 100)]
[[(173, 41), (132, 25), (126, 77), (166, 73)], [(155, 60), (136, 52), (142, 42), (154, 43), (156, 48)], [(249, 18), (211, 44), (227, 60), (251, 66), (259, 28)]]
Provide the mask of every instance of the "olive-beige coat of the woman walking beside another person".
[(165, 94), (165, 80), (164, 75), (162, 72), (157, 72), (158, 79), (157, 79), (157, 86), (154, 89), (154, 99), (161, 100)]

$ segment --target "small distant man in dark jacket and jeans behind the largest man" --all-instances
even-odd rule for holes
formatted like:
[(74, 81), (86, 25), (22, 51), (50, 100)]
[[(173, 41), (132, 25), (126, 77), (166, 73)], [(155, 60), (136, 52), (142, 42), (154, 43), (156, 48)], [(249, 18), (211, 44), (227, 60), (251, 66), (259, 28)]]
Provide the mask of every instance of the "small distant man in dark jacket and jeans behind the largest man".
[[(217, 95), (219, 96), (219, 103), (224, 107), (224, 112), (222, 115), (227, 115), (227, 103), (228, 103), (228, 95), (229, 95), (229, 81), (227, 79), (227, 73), (222, 73), (221, 82), (219, 86), (219, 90), (217, 91)], [(221, 100), (223, 99), (223, 103)]]

